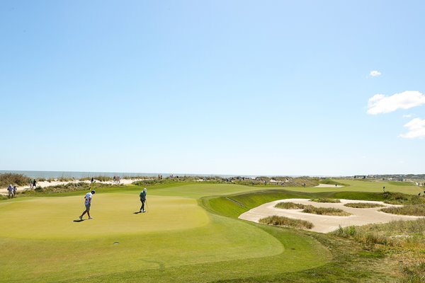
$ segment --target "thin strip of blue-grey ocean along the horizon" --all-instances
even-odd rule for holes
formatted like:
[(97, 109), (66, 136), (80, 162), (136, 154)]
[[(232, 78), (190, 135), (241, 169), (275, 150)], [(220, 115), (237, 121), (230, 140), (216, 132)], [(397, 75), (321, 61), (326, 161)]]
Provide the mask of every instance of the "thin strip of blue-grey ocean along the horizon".
[[(30, 178), (84, 178), (84, 177), (94, 177), (94, 176), (119, 176), (121, 178), (128, 176), (128, 177), (136, 177), (136, 176), (144, 176), (144, 177), (155, 177), (158, 174), (161, 174), (164, 178), (169, 177), (171, 173), (134, 173), (134, 172), (77, 172), (77, 171), (11, 171), (11, 170), (0, 170), (0, 173), (17, 173), (17, 174), (23, 174)], [(211, 174), (178, 174), (174, 173), (173, 175), (186, 175), (186, 176), (212, 176)], [(223, 178), (233, 177), (235, 175), (214, 175), (214, 176), (220, 176)], [(245, 176), (244, 177), (252, 177), (252, 176)]]

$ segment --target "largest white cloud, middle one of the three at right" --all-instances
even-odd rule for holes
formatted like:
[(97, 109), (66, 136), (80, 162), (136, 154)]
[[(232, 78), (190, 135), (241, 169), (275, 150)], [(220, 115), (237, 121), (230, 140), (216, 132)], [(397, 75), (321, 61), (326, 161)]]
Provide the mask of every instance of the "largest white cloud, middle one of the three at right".
[(409, 109), (423, 104), (425, 104), (425, 96), (419, 91), (404, 91), (392, 96), (375, 94), (375, 96), (369, 98), (368, 113), (376, 115), (397, 109)]

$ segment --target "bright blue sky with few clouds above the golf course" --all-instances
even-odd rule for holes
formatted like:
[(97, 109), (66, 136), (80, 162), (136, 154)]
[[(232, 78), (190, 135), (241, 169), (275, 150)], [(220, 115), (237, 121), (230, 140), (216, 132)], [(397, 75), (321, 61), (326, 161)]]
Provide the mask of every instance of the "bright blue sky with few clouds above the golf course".
[(425, 173), (424, 12), (2, 1), (0, 169)]

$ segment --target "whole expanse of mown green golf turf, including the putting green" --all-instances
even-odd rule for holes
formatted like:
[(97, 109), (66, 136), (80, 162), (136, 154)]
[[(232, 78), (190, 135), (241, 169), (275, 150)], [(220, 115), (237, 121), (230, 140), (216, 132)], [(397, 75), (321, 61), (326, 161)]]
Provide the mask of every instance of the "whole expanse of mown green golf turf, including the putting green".
[[(82, 222), (73, 220), (84, 209), (85, 191), (1, 201), (0, 282), (395, 282), (404, 266), (421, 275), (401, 264), (404, 258), (363, 250), (354, 238), (237, 219), (287, 198), (389, 198), (375, 188), (361, 192), (353, 183), (350, 190), (358, 192), (308, 193), (310, 188), (164, 183), (147, 186), (148, 212), (133, 214), (143, 187), (99, 187), (94, 220)], [(416, 237), (421, 241), (423, 234)]]

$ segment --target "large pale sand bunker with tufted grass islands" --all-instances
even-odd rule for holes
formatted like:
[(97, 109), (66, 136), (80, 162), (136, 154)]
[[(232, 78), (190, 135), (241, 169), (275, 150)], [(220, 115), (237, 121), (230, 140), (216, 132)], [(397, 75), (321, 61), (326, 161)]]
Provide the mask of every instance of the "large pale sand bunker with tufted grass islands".
[[(311, 204), (314, 207), (334, 207), (343, 209), (346, 212), (351, 213), (350, 216), (330, 216), (330, 215), (317, 215), (317, 214), (307, 214), (301, 212), (302, 209), (280, 209), (274, 207), (278, 202), (295, 202), (299, 204)], [(288, 199), (288, 200), (276, 200), (274, 202), (268, 202), (262, 204), (259, 207), (245, 212), (239, 216), (239, 219), (244, 219), (248, 221), (257, 222), (259, 219), (278, 215), (286, 216), (293, 219), (302, 219), (312, 222), (314, 227), (310, 231), (316, 231), (320, 233), (328, 233), (335, 231), (341, 225), (342, 227), (346, 226), (361, 226), (365, 224), (372, 223), (387, 223), (392, 220), (415, 220), (420, 216), (407, 216), (407, 215), (396, 215), (396, 214), (387, 214), (385, 212), (378, 212), (382, 207), (375, 208), (352, 208), (344, 207), (344, 204), (348, 202), (373, 202), (373, 201), (364, 201), (364, 200), (341, 200), (341, 203), (322, 203), (322, 202), (310, 202), (310, 200), (305, 199)], [(396, 206), (393, 204), (385, 204), (383, 202), (373, 202), (385, 205), (386, 207)]]

